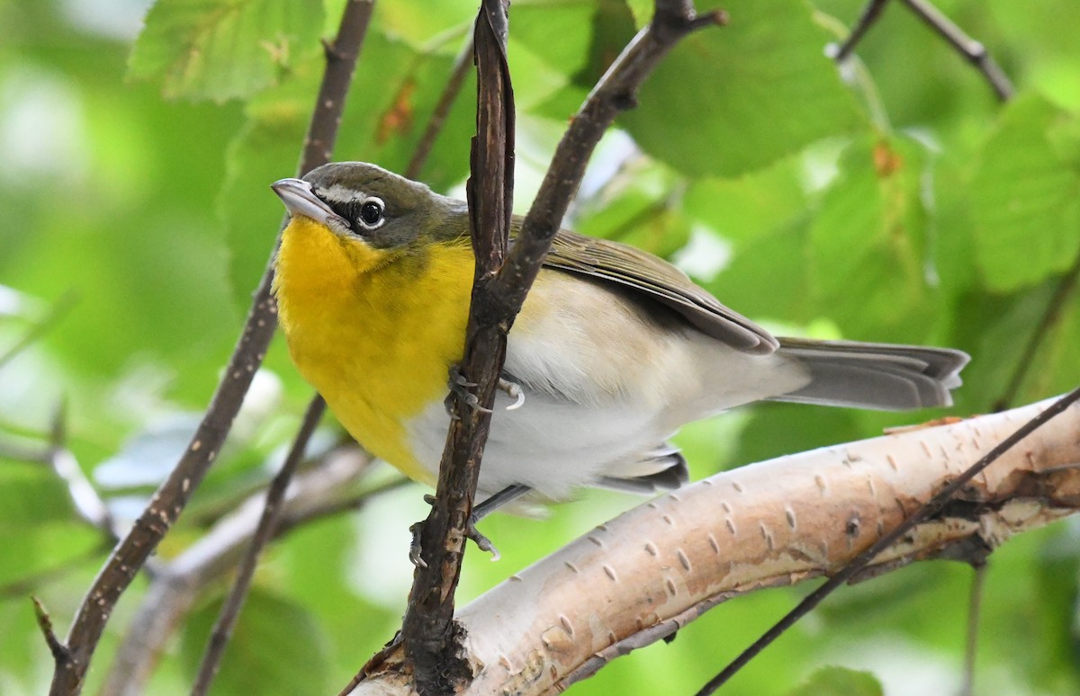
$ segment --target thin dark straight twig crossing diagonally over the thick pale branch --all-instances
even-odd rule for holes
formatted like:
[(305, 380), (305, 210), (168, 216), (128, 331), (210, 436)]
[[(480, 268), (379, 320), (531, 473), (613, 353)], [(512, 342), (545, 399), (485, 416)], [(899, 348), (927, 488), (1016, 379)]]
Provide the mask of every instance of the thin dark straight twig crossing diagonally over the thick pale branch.
[(717, 688), (723, 686), (725, 682), (731, 679), (735, 672), (742, 669), (747, 663), (750, 663), (751, 659), (772, 643), (772, 641), (780, 638), (784, 631), (794, 626), (796, 622), (818, 606), (818, 604), (828, 597), (833, 590), (847, 583), (864, 568), (866, 568), (878, 554), (903, 538), (903, 536), (912, 531), (919, 522), (922, 522), (923, 520), (940, 513), (945, 505), (948, 504), (953, 496), (969, 481), (971, 481), (971, 479), (975, 478), (998, 458), (1015, 447), (1028, 435), (1039, 429), (1044, 423), (1064, 412), (1069, 406), (1078, 400), (1080, 400), (1080, 387), (1069, 392), (1057, 401), (1054, 401), (1047, 408), (1045, 411), (1039, 413), (1037, 417), (1017, 428), (1015, 433), (1001, 440), (994, 449), (987, 452), (981, 460), (968, 467), (962, 474), (960, 474), (960, 476), (943, 488), (924, 505), (915, 510), (909, 517), (905, 518), (904, 521), (897, 524), (891, 532), (879, 538), (870, 545), (869, 548), (853, 558), (847, 565), (840, 569), (839, 572), (822, 583), (818, 589), (810, 592), (795, 606), (795, 609), (788, 612), (779, 622), (773, 624), (773, 626), (766, 631), (764, 636), (757, 639), (750, 647), (744, 650), (735, 659), (731, 661), (731, 664), (725, 667), (720, 673), (702, 686), (701, 691), (698, 692), (698, 696), (708, 696), (708, 694), (715, 693)]

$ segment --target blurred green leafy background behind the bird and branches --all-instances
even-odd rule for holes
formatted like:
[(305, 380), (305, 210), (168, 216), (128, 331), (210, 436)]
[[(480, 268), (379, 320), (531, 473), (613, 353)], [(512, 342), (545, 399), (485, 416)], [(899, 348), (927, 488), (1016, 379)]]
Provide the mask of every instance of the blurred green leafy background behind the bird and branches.
[[(0, 693), (41, 693), (51, 671), (26, 597), (41, 597), (63, 629), (104, 558), (65, 488), (19, 452), (48, 447), (66, 401), (66, 442), (114, 515), (141, 508), (205, 407), (271, 254), (282, 210), (267, 185), (294, 174), (322, 69), (318, 39), (333, 35), (342, 4), (0, 2), (0, 360), (75, 298), (0, 364)], [(1007, 106), (899, 3), (837, 68), (826, 45), (861, 4), (726, 3), (730, 25), (678, 46), (605, 138), (570, 222), (674, 258), (780, 332), (964, 349), (974, 359), (955, 413), (1075, 386), (1077, 291), (1056, 322), (1041, 323), (1080, 254), (1080, 4), (939, 3), (1014, 79)], [(518, 208), (566, 119), (649, 6), (514, 3)], [(377, 4), (337, 159), (404, 169), (474, 10)], [(438, 190), (460, 190), (467, 174), (472, 90), (421, 175)], [(268, 480), (309, 396), (275, 343), (162, 558)], [(678, 441), (701, 477), (937, 414), (765, 405), (693, 424)], [(396, 627), (419, 496), (404, 489), (279, 542), (215, 693), (342, 685)], [(486, 521), (503, 560), (470, 554), (462, 600), (636, 503), (584, 496), (589, 505), (562, 505), (543, 521)], [(991, 557), (976, 693), (1080, 692), (1077, 550), (1076, 527), (1063, 523)], [(953, 692), (970, 582), (970, 570), (936, 562), (845, 589), (725, 693), (876, 694), (878, 682), (890, 694)], [(144, 591), (137, 582), (112, 617), (91, 691)], [(224, 591), (207, 588), (150, 693), (187, 693)], [(798, 591), (725, 604), (573, 693), (688, 693)], [(824, 665), (850, 669), (818, 671)]]

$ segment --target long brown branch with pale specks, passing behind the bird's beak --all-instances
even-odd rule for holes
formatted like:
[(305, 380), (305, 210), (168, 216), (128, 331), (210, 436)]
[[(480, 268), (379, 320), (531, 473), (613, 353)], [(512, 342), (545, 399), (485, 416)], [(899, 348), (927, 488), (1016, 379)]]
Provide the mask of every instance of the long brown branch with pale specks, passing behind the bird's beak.
[[(338, 36), (326, 52), (326, 71), (300, 160), (301, 174), (329, 159), (373, 2), (349, 0), (346, 4)], [(69, 657), (57, 663), (53, 673), (52, 696), (81, 691), (91, 657), (120, 595), (179, 517), (220, 451), (276, 326), (276, 306), (270, 291), (272, 258), (273, 254), (255, 291), (252, 309), (225, 377), (191, 443), (127, 536), (113, 549), (80, 604), (67, 637)]]

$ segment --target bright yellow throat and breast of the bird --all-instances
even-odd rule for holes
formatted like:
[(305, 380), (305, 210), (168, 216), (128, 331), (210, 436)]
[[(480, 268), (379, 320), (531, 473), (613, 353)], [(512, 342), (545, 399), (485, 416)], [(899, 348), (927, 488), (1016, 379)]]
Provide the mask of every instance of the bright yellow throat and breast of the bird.
[(468, 242), (374, 249), (303, 217), (286, 227), (278, 254), (274, 291), (297, 369), (361, 445), (429, 483), (404, 424), (446, 395), (473, 264)]

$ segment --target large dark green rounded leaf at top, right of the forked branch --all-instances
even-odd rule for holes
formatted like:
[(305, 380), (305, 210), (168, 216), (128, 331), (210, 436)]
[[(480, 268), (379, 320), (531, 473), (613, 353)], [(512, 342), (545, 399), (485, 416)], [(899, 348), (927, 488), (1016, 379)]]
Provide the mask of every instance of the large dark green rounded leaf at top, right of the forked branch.
[(684, 39), (619, 122), (652, 156), (702, 176), (762, 167), (862, 122), (801, 0), (725, 3), (730, 25)]

